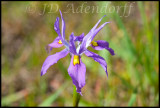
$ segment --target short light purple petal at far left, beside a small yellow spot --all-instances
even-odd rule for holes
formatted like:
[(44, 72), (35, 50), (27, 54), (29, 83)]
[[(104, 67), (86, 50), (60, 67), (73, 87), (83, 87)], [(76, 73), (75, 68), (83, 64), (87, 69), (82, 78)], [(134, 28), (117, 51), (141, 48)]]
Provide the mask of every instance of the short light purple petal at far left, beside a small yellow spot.
[(52, 50), (52, 48), (62, 47), (62, 46), (63, 46), (63, 43), (62, 43), (62, 44), (58, 43), (59, 40), (61, 40), (61, 38), (60, 38), (60, 37), (57, 37), (52, 43), (48, 44), (48, 45), (46, 46), (46, 51), (47, 51), (48, 53), (50, 53), (50, 51)]

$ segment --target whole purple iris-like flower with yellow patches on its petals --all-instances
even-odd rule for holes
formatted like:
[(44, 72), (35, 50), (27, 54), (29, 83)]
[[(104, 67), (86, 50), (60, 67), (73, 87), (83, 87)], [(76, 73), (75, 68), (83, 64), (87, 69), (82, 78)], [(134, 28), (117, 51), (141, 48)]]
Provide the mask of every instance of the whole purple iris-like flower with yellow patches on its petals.
[[(103, 40), (93, 41), (96, 34), (109, 22), (105, 22), (99, 28), (97, 28), (98, 24), (104, 17), (103, 16), (86, 36), (84, 36), (84, 33), (82, 33), (80, 36), (74, 36), (74, 33), (72, 33), (70, 35), (69, 42), (67, 42), (65, 40), (65, 22), (64, 22), (61, 11), (60, 11), (60, 14), (62, 19), (62, 29), (61, 29), (62, 32), (60, 33), (59, 17), (57, 17), (56, 22), (54, 24), (54, 29), (57, 32), (58, 37), (51, 44), (48, 44), (47, 48), (49, 49), (49, 51), (51, 51), (52, 48), (58, 48), (63, 45), (66, 48), (61, 52), (58, 52), (54, 55), (50, 55), (46, 58), (41, 69), (41, 76), (47, 72), (47, 69), (51, 65), (57, 63), (59, 59), (65, 57), (68, 53), (70, 53), (71, 62), (68, 68), (68, 74), (72, 78), (73, 84), (76, 86), (76, 91), (82, 95), (81, 89), (85, 86), (85, 74), (86, 74), (86, 66), (81, 60), (81, 56), (83, 53), (86, 56), (91, 57), (96, 62), (98, 62), (102, 66), (102, 68), (105, 70), (108, 76), (107, 63), (105, 59), (99, 56), (98, 54), (95, 54), (87, 50), (87, 48), (88, 46), (91, 46), (95, 50), (106, 49), (111, 53), (111, 55), (114, 55), (114, 50), (109, 48), (108, 42)], [(75, 44), (77, 44), (77, 48)]]

